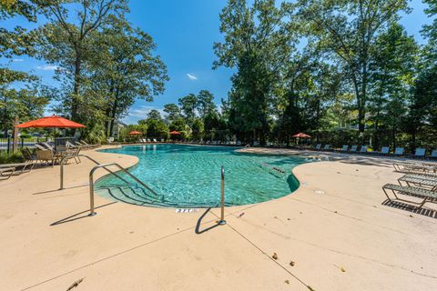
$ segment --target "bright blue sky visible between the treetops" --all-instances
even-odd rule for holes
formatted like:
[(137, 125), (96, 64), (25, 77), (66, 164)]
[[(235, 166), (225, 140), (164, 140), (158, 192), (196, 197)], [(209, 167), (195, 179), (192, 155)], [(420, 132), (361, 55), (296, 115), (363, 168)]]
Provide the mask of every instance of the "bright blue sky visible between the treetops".
[[(216, 59), (212, 45), (222, 39), (219, 34), (219, 13), (225, 0), (130, 0), (130, 14), (127, 19), (153, 37), (158, 45), (156, 53), (168, 66), (170, 80), (166, 91), (156, 96), (153, 102), (137, 100), (124, 119), (127, 123), (136, 123), (144, 118), (151, 109), (162, 109), (168, 103), (178, 103), (178, 98), (189, 93), (198, 93), (208, 89), (220, 103), (226, 98), (230, 88), (232, 70), (219, 68), (212, 70), (212, 62)], [(410, 15), (402, 15), (401, 24), (409, 34), (423, 44), (420, 30), (429, 23), (423, 14), (426, 7), (421, 0), (412, 0), (413, 9)], [(35, 27), (21, 19), (7, 21), (8, 28), (13, 25)], [(5, 60), (2, 60), (5, 63)], [(52, 78), (54, 67), (44, 61), (19, 56), (11, 61), (11, 67), (23, 71), (32, 71), (40, 75), (47, 85), (56, 85)]]

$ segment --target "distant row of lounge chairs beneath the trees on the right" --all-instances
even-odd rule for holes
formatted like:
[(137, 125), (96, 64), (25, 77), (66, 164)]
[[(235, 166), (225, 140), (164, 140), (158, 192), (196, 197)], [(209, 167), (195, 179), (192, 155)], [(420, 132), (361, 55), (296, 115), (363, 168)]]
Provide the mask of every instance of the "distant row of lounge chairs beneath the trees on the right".
[[(379, 155), (379, 156), (390, 156), (391, 151), (389, 146), (383, 146), (381, 147), (381, 151), (369, 151), (368, 146), (361, 146), (360, 150), (358, 149), (358, 146), (347, 146), (344, 145), (340, 149), (331, 149), (330, 145), (321, 146), (321, 144), (318, 144), (314, 147), (317, 151), (338, 151), (340, 153), (348, 153), (348, 154), (368, 154), (368, 155)], [(403, 147), (396, 147), (392, 153), (392, 156), (405, 156), (404, 154), (404, 148)], [(426, 156), (426, 149), (422, 147), (416, 148), (413, 155), (410, 155), (411, 157), (417, 157), (417, 158), (437, 158), (437, 149), (434, 149), (430, 156)]]

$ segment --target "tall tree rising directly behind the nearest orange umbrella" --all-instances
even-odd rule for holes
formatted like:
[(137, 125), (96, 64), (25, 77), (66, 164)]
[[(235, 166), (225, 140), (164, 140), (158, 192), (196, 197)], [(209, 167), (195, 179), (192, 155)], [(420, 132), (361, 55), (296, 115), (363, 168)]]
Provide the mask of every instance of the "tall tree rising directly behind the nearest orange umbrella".
[(51, 1), (43, 7), (48, 23), (36, 32), (39, 35), (38, 55), (57, 65), (58, 77), (66, 79), (71, 90), (65, 95), (64, 106), (73, 120), (80, 119), (83, 84), (86, 82), (86, 62), (96, 56), (92, 39), (111, 15), (121, 17), (127, 11), (125, 0)]

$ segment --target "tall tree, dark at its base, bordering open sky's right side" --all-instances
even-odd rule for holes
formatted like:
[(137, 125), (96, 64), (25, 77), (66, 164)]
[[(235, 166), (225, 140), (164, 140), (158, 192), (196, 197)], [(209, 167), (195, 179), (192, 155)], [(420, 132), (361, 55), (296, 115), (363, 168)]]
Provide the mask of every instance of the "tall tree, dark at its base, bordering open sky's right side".
[(222, 43), (214, 44), (220, 65), (237, 68), (229, 93), (229, 125), (240, 138), (269, 134), (270, 98), (279, 80), (280, 66), (289, 57), (293, 35), (284, 22), (289, 4), (273, 0), (229, 0), (220, 14)]

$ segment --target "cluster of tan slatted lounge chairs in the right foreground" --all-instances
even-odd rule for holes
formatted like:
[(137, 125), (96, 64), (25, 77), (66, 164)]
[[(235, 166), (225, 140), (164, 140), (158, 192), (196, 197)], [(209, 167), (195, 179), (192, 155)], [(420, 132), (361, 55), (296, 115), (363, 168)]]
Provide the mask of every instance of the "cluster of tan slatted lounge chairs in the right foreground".
[[(398, 184), (389, 183), (382, 186), (390, 202), (402, 201), (418, 208), (422, 208), (425, 203), (437, 203), (437, 164), (402, 162), (393, 166), (396, 172), (403, 173), (404, 176), (398, 179)], [(412, 197), (415, 200), (412, 200)]]

